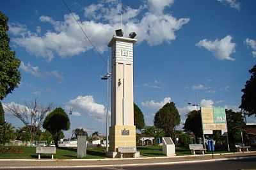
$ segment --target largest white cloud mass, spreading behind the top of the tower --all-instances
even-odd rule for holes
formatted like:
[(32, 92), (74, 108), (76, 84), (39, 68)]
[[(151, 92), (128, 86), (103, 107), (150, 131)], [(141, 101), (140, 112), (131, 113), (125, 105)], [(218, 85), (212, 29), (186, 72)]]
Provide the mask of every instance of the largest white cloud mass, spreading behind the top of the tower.
[[(156, 4), (156, 1), (149, 1), (149, 11), (145, 8), (147, 4), (141, 5), (138, 9), (124, 6), (123, 29), (125, 36), (135, 31), (138, 42), (145, 41), (149, 45), (170, 43), (175, 40), (175, 31), (187, 24), (189, 19), (177, 19), (170, 14), (164, 14), (164, 7), (170, 6), (172, 3), (173, 1), (166, 0), (159, 4)], [(62, 58), (72, 57), (93, 49), (90, 42), (84, 38), (80, 27), (77, 26), (73, 19), (74, 16), (97, 49), (104, 52), (108, 48), (108, 42), (114, 35), (115, 29), (120, 28), (121, 9), (121, 4), (118, 1), (110, 3), (104, 1), (104, 3), (91, 4), (84, 8), (86, 20), (81, 20), (76, 13), (64, 15), (63, 21), (54, 20), (49, 16), (41, 16), (40, 21), (51, 24), (51, 30), (42, 36), (29, 33), (12, 38), (12, 40), (31, 54), (45, 58), (47, 61), (51, 61), (56, 55)], [(161, 10), (161, 14), (155, 13)]]

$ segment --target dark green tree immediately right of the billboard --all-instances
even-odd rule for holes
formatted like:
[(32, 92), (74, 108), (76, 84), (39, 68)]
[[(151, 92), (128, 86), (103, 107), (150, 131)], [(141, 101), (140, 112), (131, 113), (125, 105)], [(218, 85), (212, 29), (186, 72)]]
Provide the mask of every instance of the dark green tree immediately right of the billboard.
[(231, 145), (241, 143), (241, 129), (244, 126), (243, 116), (241, 112), (235, 112), (226, 109), (228, 139)]

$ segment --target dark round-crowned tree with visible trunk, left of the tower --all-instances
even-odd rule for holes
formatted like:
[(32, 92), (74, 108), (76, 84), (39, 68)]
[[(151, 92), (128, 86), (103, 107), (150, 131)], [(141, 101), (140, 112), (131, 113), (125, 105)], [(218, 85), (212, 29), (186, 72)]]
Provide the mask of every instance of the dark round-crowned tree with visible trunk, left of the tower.
[(68, 130), (70, 128), (70, 121), (67, 113), (60, 107), (56, 108), (45, 118), (43, 127), (51, 132), (54, 139), (55, 146), (58, 147), (58, 140), (60, 139), (61, 130)]

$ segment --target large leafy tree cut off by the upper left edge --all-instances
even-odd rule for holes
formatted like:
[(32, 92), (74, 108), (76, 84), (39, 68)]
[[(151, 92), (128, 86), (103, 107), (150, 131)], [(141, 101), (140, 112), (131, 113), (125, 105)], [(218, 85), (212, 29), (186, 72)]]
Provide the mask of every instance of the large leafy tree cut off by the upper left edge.
[(20, 83), (20, 60), (15, 57), (15, 52), (9, 46), (7, 22), (8, 17), (0, 12), (0, 100), (12, 93)]

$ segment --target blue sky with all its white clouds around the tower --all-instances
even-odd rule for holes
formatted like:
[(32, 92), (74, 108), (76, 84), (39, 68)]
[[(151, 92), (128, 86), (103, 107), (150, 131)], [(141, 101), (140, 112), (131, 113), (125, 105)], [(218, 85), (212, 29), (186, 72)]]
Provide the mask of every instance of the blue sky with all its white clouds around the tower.
[[(3, 100), (24, 104), (35, 98), (69, 111), (71, 128), (104, 133), (107, 45), (120, 28), (135, 31), (134, 101), (152, 125), (154, 113), (173, 101), (182, 121), (193, 107), (237, 109), (241, 89), (256, 61), (253, 0), (210, 1), (3, 1), (11, 47), (22, 61), (20, 87)], [(123, 8), (122, 8), (123, 6)], [(84, 38), (73, 16), (93, 44)], [(17, 118), (6, 114), (16, 127)], [(255, 117), (248, 119), (256, 122)], [(69, 137), (70, 131), (66, 132)]]

